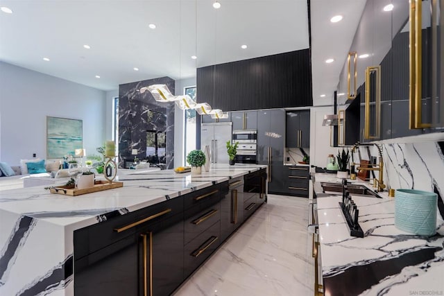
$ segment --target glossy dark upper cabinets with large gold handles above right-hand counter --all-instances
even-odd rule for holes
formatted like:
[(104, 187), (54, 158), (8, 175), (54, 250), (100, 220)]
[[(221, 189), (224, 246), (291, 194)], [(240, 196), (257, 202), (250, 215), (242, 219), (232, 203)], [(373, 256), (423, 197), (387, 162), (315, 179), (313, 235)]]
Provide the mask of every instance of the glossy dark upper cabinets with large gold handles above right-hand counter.
[(338, 85), (342, 104), (353, 94), (355, 66), (359, 115), (356, 107), (345, 112), (343, 134), (351, 112), (362, 142), (444, 130), (443, 11), (444, 0), (366, 2), (350, 46), (357, 64), (350, 67), (349, 53)]

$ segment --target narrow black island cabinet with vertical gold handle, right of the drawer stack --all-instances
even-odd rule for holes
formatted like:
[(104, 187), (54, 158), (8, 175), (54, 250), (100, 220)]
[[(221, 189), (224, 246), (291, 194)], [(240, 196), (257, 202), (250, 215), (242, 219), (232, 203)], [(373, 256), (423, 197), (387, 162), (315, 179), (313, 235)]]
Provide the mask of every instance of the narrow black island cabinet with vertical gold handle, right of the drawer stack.
[(244, 177), (230, 180), (221, 193), (221, 241), (244, 222)]

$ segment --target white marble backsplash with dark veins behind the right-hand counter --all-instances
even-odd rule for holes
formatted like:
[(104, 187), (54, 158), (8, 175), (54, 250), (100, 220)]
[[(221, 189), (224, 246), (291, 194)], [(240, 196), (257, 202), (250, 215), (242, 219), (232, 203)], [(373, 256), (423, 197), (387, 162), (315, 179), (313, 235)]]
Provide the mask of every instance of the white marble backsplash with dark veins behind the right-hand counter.
[[(359, 147), (369, 159), (366, 147)], [(382, 144), (384, 183), (393, 189), (418, 189), (438, 194), (438, 211), (444, 217), (444, 141)], [(377, 149), (370, 147), (370, 155)]]

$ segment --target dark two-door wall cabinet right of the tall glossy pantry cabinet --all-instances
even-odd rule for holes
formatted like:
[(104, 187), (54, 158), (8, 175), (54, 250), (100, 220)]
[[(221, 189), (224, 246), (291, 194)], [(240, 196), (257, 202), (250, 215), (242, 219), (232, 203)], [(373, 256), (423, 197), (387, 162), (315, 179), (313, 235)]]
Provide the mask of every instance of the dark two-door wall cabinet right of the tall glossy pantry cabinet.
[(310, 111), (287, 112), (286, 126), (287, 148), (309, 148), (310, 146)]

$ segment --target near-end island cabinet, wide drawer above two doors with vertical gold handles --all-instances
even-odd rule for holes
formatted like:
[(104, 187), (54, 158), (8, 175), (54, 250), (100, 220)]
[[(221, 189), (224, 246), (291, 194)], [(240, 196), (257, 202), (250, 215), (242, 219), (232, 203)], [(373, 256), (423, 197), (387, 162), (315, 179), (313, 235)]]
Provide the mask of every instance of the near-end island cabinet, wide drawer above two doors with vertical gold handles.
[(182, 213), (176, 198), (76, 230), (75, 295), (172, 293), (184, 279)]

